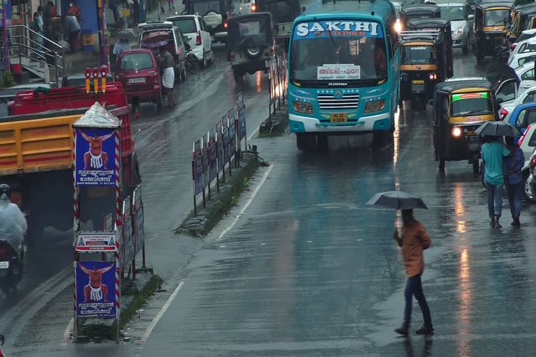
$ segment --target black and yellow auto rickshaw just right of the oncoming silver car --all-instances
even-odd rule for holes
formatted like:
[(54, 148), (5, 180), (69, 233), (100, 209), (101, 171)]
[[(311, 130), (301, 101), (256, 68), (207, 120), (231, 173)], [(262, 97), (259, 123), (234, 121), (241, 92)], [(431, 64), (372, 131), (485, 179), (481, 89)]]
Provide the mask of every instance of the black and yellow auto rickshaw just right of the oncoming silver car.
[(510, 12), (502, 3), (482, 3), (475, 8), (475, 57), (493, 56), (502, 45), (502, 30)]

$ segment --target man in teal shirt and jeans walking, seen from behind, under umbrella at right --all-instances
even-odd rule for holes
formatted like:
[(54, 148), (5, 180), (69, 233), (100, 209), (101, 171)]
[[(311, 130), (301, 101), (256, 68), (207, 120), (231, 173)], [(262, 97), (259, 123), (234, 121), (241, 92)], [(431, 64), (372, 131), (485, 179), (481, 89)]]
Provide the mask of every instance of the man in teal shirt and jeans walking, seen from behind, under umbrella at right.
[(482, 145), (484, 181), (488, 190), (488, 213), (491, 227), (502, 228), (499, 218), (502, 213), (502, 186), (505, 185), (503, 158), (510, 152), (498, 137), (485, 136)]

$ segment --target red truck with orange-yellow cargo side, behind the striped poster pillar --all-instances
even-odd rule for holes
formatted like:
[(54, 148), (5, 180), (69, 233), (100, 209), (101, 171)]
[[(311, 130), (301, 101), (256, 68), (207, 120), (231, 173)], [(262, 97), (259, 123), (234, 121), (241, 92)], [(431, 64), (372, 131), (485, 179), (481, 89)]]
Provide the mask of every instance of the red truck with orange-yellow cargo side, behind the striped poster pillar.
[(0, 118), (0, 183), (8, 183), (12, 200), (29, 211), (31, 237), (47, 226), (73, 227), (73, 122), (95, 102), (121, 119), (122, 191), (128, 195), (141, 179), (121, 84), (109, 83), (98, 94), (76, 87), (23, 91), (8, 103), (9, 116)]

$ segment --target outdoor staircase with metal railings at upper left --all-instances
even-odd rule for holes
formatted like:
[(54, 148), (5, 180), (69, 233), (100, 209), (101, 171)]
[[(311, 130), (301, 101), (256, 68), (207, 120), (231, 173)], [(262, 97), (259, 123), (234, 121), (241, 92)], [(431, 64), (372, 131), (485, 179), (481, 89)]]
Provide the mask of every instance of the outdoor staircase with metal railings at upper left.
[(20, 64), (38, 82), (56, 84), (65, 75), (65, 52), (58, 43), (24, 25), (9, 25), (9, 61)]

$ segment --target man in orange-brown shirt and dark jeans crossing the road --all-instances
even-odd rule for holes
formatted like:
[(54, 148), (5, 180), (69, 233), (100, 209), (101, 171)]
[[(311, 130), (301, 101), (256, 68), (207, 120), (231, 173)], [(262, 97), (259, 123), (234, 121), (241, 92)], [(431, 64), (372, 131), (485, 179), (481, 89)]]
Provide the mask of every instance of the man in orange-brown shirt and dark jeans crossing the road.
[(402, 248), (402, 257), (404, 259), (405, 273), (408, 280), (405, 284), (405, 309), (404, 322), (395, 332), (401, 335), (408, 335), (411, 321), (411, 310), (413, 305), (413, 296), (417, 299), (421, 307), (424, 324), (415, 331), (417, 335), (429, 335), (433, 333), (432, 318), (430, 309), (424, 292), (422, 291), (421, 275), (424, 271), (424, 259), (422, 251), (428, 249), (431, 245), (431, 239), (421, 222), (415, 220), (412, 209), (402, 210), (402, 230), (401, 236), (395, 229), (393, 238)]

